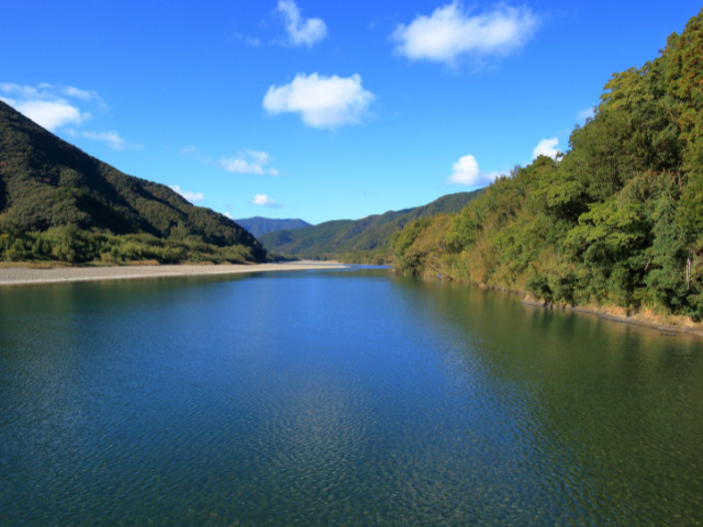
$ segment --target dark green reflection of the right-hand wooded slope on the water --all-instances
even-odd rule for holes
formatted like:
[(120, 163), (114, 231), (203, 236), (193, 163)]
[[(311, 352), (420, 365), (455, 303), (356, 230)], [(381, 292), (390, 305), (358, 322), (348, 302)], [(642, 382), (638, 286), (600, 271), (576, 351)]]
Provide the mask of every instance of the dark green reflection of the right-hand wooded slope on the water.
[(453, 283), (397, 283), (429, 300), (466, 339), (460, 355), (481, 365), (513, 419), (524, 484), (539, 487), (538, 500), (562, 512), (561, 520), (700, 519), (700, 339), (525, 306), (512, 295)]

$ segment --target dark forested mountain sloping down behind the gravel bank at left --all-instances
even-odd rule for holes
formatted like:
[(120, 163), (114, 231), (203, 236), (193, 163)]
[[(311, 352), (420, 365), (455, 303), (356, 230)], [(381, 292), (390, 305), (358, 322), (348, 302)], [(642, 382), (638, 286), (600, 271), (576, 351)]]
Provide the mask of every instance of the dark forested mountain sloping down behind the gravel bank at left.
[(232, 220), (120, 172), (0, 101), (0, 259), (265, 258)]

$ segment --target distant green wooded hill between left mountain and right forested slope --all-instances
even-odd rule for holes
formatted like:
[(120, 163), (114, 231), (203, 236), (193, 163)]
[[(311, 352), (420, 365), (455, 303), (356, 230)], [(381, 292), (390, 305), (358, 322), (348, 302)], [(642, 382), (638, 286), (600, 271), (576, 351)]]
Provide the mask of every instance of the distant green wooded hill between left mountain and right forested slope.
[(271, 253), (312, 259), (342, 259), (346, 262), (388, 262), (390, 237), (409, 222), (435, 214), (460, 211), (481, 191), (448, 194), (432, 203), (387, 212), (361, 220), (339, 220), (297, 231), (279, 231), (260, 237)]

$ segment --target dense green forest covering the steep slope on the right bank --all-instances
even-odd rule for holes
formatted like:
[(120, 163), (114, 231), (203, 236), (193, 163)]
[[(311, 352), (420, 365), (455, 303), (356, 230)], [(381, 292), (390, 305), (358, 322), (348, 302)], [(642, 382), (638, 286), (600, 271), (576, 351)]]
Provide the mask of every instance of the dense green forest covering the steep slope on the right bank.
[(569, 150), (394, 235), (402, 272), (703, 318), (703, 10), (605, 85)]

